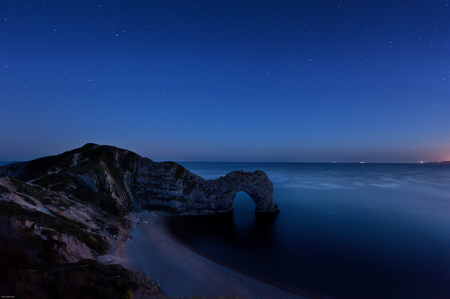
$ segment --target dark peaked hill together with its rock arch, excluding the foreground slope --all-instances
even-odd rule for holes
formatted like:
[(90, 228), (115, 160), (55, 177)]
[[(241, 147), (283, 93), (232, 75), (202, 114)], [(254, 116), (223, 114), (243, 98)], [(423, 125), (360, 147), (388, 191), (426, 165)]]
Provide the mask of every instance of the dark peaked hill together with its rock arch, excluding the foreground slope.
[(115, 215), (142, 209), (211, 214), (232, 209), (236, 192), (247, 192), (256, 212), (277, 212), (273, 184), (262, 171), (235, 171), (204, 180), (174, 162), (156, 163), (112, 146), (86, 144), (61, 155), (0, 166), (0, 177), (94, 203)]

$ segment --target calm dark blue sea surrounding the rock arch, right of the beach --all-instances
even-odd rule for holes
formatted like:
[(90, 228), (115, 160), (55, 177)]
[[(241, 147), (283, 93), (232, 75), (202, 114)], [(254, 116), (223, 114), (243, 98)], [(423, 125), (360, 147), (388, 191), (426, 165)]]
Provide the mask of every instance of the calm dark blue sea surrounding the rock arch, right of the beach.
[(450, 165), (181, 163), (206, 179), (263, 170), (281, 212), (174, 217), (231, 267), (324, 298), (450, 298)]

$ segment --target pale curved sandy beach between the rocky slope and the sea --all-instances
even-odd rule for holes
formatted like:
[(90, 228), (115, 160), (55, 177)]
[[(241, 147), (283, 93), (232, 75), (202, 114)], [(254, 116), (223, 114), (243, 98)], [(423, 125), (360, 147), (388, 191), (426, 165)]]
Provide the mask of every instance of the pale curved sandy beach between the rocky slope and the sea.
[(169, 297), (313, 298), (266, 284), (219, 265), (175, 241), (165, 230), (164, 217), (153, 213), (142, 220), (110, 255), (115, 262), (149, 275)]

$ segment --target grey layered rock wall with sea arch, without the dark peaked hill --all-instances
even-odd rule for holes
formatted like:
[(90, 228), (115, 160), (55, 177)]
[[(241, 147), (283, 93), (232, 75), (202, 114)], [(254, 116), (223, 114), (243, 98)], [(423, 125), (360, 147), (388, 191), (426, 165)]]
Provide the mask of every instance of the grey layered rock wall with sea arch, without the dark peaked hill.
[(177, 214), (213, 214), (232, 210), (236, 193), (244, 191), (256, 203), (256, 212), (277, 212), (273, 184), (262, 171), (235, 171), (204, 180), (173, 162), (141, 161), (133, 185), (135, 210), (161, 209)]

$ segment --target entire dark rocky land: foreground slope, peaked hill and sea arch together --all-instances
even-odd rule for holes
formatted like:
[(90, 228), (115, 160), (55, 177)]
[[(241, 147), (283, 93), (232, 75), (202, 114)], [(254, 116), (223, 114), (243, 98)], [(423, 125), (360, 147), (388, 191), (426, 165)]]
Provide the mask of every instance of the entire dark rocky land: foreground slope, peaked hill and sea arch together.
[(57, 298), (67, 295), (67, 287), (73, 298), (127, 298), (132, 291), (135, 297), (160, 297), (148, 279), (98, 262), (127, 239), (133, 213), (229, 212), (239, 191), (250, 195), (255, 212), (279, 211), (262, 171), (204, 180), (177, 163), (112, 146), (86, 144), (0, 166), (0, 293)]

